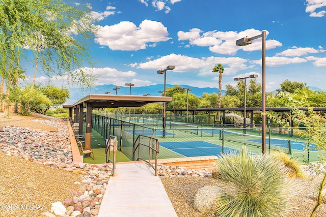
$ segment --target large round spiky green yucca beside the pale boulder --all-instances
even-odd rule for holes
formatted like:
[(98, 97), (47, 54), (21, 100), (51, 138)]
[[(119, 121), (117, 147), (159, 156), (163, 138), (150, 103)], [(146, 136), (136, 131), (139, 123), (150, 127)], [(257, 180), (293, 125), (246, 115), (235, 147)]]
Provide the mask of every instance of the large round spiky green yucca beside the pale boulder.
[(245, 146), (239, 154), (224, 154), (215, 162), (221, 190), (215, 202), (219, 216), (286, 216), (293, 196), (288, 170), (270, 155), (253, 156)]

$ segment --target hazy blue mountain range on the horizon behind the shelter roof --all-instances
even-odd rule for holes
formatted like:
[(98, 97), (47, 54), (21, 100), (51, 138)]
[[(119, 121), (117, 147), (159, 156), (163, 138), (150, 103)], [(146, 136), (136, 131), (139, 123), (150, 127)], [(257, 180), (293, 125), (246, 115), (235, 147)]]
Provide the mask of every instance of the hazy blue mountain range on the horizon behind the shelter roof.
[[(173, 87), (172, 84), (167, 84), (168, 87)], [(218, 94), (219, 89), (218, 88), (211, 88), (211, 87), (194, 87), (189, 85), (183, 85), (181, 84), (183, 88), (192, 88), (189, 93), (192, 93), (198, 97), (202, 97), (204, 92), (207, 92), (207, 94), (212, 94), (215, 92)], [(94, 88), (89, 89), (80, 89), (80, 88), (70, 88), (70, 98), (66, 101), (66, 105), (72, 105), (76, 103), (78, 100), (82, 99), (83, 97), (89, 95), (89, 94), (105, 94), (106, 91), (110, 91), (107, 94), (115, 95), (116, 90), (113, 90), (116, 85), (113, 84), (104, 84), (104, 85), (98, 85)], [(150, 94), (151, 96), (161, 96), (161, 93), (158, 91), (164, 90), (164, 84), (156, 84), (156, 85), (149, 85), (149, 86), (141, 86), (141, 87), (131, 87), (131, 95), (134, 96), (142, 96)], [(117, 90), (117, 95), (129, 95), (130, 94), (130, 87), (129, 86), (120, 86), (120, 89)], [(222, 90), (222, 95), (225, 94), (225, 90)]]

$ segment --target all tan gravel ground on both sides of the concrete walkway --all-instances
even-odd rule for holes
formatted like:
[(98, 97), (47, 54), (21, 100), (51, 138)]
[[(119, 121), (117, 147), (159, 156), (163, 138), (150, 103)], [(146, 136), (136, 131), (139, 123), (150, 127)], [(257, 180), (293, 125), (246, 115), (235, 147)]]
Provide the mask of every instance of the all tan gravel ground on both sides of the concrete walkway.
[[(44, 117), (37, 114), (29, 117), (10, 114), (9, 118), (1, 114), (0, 128), (14, 125), (49, 131), (57, 130), (32, 121), (32, 119), (42, 118)], [(300, 192), (293, 198), (294, 209), (288, 217), (310, 216), (316, 201), (308, 198), (307, 195), (317, 189), (321, 179), (321, 176), (298, 179)], [(161, 180), (179, 217), (204, 217), (193, 208), (195, 196), (205, 185), (214, 185), (215, 180), (209, 177), (166, 177)], [(75, 181), (80, 181), (80, 176), (77, 174), (0, 154), (0, 205), (44, 205), (43, 210), (0, 209), (0, 216), (41, 216), (40, 213), (50, 210), (52, 202), (62, 201), (68, 197), (69, 189), (78, 188), (73, 184)], [(326, 216), (325, 203), (319, 206), (315, 214), (315, 217), (322, 216)]]

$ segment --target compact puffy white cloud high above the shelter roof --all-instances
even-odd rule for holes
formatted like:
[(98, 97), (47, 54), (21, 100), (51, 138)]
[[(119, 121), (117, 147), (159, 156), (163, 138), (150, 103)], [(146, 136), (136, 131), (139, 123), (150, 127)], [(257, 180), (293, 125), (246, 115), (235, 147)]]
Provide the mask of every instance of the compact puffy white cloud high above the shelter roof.
[(99, 26), (99, 28), (94, 41), (112, 50), (146, 49), (148, 44), (155, 46), (155, 43), (171, 39), (168, 37), (167, 27), (161, 22), (151, 20), (142, 21), (139, 27), (132, 22), (122, 21), (111, 26)]

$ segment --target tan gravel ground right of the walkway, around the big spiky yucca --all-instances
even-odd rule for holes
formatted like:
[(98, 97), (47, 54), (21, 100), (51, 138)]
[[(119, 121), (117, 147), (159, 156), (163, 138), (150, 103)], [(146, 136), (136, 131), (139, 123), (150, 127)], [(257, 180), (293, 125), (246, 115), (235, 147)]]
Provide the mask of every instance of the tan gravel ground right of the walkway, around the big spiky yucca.
[[(307, 195), (313, 193), (318, 188), (322, 178), (321, 175), (297, 178), (300, 191), (292, 199), (291, 202), (294, 207), (286, 217), (310, 216), (316, 204), (316, 200), (308, 198)], [(210, 177), (165, 177), (161, 178), (161, 180), (179, 217), (206, 217), (196, 211), (193, 205), (198, 190), (205, 185), (216, 185), (214, 179)], [(318, 207), (315, 217), (325, 216), (326, 204), (323, 203)]]

